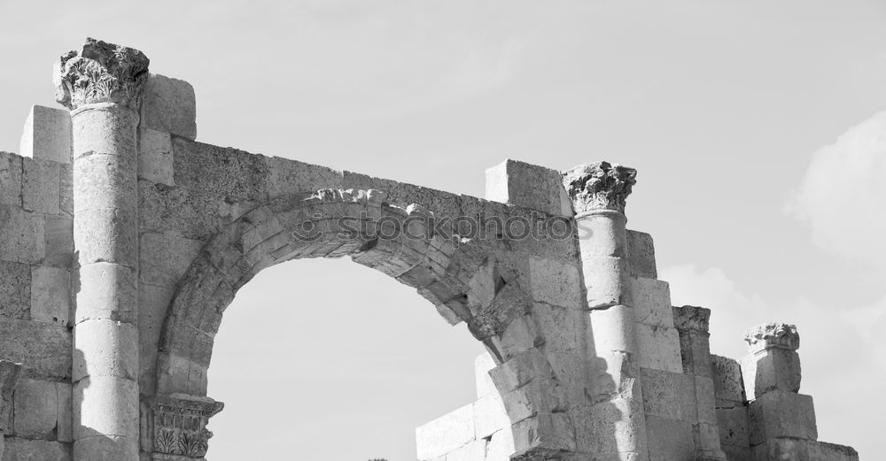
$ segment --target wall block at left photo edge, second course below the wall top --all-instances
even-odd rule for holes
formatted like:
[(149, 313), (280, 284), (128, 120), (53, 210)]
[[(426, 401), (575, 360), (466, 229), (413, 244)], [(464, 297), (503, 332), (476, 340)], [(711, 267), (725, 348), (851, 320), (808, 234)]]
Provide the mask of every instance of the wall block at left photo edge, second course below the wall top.
[(0, 204), (0, 259), (36, 264), (45, 256), (43, 216)]

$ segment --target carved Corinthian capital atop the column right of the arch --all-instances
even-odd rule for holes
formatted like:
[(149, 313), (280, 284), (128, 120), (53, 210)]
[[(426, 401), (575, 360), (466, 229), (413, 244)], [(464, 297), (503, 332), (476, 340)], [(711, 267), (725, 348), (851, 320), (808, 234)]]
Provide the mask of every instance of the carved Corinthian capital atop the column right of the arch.
[(609, 162), (579, 165), (563, 172), (563, 186), (576, 213), (613, 210), (624, 213), (625, 199), (637, 183), (637, 170)]

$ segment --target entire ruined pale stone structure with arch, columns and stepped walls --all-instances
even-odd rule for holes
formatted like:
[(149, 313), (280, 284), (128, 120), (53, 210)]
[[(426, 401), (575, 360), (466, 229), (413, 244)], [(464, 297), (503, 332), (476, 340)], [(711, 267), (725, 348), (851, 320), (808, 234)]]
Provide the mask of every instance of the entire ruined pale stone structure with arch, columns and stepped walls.
[(481, 199), (217, 147), (148, 65), (87, 40), (56, 66), (67, 111), (33, 107), (0, 153), (0, 460), (203, 459), (225, 308), (306, 257), (386, 273), (486, 346), (422, 461), (858, 459), (817, 440), (795, 327), (734, 360), (711, 311), (672, 306), (626, 228), (632, 168), (507, 160)]

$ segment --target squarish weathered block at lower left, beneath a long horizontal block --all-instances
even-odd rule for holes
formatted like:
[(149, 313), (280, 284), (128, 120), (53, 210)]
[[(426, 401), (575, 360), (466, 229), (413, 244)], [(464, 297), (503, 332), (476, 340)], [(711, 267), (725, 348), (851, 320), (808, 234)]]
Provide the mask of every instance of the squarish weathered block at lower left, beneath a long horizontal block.
[(56, 383), (19, 380), (15, 388), (15, 434), (28, 439), (55, 439), (58, 392)]

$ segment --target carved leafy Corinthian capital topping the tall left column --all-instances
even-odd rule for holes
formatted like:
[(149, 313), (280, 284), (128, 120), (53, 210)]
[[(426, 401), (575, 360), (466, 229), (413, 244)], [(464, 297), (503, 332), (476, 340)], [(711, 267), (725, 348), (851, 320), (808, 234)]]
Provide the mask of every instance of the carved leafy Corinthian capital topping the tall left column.
[(137, 111), (149, 62), (139, 50), (87, 38), (56, 64), (56, 101), (68, 109), (114, 103)]

